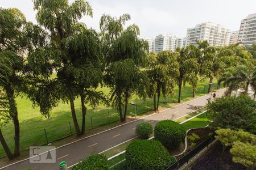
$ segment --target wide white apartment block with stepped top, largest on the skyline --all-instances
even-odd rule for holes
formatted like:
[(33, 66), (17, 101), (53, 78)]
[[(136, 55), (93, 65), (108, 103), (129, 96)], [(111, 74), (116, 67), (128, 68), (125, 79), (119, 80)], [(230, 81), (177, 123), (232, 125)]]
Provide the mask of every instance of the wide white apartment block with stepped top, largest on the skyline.
[(197, 24), (187, 29), (186, 45), (196, 44), (196, 40), (207, 40), (210, 46), (229, 45), (230, 30), (212, 22)]

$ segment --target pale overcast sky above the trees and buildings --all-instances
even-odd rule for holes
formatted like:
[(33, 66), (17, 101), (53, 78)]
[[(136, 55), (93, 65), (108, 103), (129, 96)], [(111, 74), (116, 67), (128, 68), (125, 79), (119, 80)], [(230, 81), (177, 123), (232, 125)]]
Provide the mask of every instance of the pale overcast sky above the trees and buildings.
[[(155, 37), (160, 33), (184, 37), (187, 28), (203, 22), (222, 24), (236, 31), (241, 19), (256, 13), (255, 0), (89, 0), (89, 3), (93, 18), (81, 19), (88, 27), (99, 31), (98, 23), (104, 13), (113, 16), (128, 13), (129, 24), (137, 24), (142, 37)], [(32, 0), (0, 0), (0, 7), (19, 8), (27, 20), (36, 23)]]

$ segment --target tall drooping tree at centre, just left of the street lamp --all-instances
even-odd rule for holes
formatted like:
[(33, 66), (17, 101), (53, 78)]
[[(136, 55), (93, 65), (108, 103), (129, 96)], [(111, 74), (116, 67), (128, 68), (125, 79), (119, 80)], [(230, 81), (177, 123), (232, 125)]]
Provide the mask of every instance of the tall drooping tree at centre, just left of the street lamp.
[(129, 19), (128, 14), (118, 19), (103, 15), (100, 22), (106, 61), (105, 83), (111, 89), (110, 100), (118, 109), (121, 121), (126, 120), (129, 98), (138, 92), (140, 82), (143, 82), (141, 66), (148, 47), (145, 41), (138, 39), (137, 25), (123, 29)]

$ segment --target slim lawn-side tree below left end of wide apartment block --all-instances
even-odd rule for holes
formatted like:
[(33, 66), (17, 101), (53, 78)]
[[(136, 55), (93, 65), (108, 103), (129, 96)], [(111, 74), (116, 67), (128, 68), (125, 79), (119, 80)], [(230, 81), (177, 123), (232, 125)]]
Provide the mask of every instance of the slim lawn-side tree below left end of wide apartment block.
[(192, 45), (186, 46), (185, 48), (177, 48), (177, 52), (180, 53), (177, 57), (177, 62), (179, 63), (179, 76), (177, 77), (179, 86), (178, 103), (180, 103), (182, 83), (184, 81), (190, 82), (193, 87), (196, 87), (196, 73), (197, 69), (199, 69), (199, 63), (197, 63), (195, 48)]

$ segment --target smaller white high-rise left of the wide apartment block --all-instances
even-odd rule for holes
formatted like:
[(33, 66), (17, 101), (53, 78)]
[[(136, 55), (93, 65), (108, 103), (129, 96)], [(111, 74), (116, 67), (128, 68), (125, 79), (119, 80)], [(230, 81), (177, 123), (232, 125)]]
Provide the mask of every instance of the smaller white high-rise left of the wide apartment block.
[(159, 53), (164, 50), (176, 49), (176, 39), (177, 37), (172, 34), (160, 34), (155, 37), (155, 52)]

